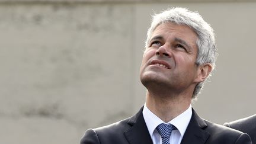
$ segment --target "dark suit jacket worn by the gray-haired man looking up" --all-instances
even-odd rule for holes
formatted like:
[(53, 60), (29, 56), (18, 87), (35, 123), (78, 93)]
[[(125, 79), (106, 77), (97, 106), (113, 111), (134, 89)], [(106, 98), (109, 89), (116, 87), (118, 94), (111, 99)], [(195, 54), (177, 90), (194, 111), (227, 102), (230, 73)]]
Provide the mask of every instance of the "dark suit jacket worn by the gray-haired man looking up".
[[(81, 144), (153, 144), (142, 114), (143, 108), (128, 119), (109, 126), (89, 129), (81, 139)], [(201, 119), (193, 110), (190, 123), (181, 144), (229, 144), (251, 143), (246, 133)]]

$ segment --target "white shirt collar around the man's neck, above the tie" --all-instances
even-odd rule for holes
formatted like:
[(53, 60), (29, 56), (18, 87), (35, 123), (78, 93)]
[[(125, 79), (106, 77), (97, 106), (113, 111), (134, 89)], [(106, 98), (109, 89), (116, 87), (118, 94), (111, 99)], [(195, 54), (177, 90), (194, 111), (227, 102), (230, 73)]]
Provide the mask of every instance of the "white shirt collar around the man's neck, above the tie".
[[(153, 132), (156, 129), (156, 127), (161, 124), (165, 123), (162, 121), (159, 117), (157, 117), (155, 114), (153, 114), (148, 107), (146, 107), (146, 104), (144, 105), (143, 111), (142, 111), (146, 126), (148, 127), (149, 134), (151, 137), (153, 136)], [(185, 130), (187, 129), (188, 123), (190, 122), (192, 116), (192, 107), (188, 107), (187, 110), (185, 110), (183, 113), (169, 121), (168, 123), (174, 125), (178, 131), (181, 134), (181, 137), (184, 136)]]

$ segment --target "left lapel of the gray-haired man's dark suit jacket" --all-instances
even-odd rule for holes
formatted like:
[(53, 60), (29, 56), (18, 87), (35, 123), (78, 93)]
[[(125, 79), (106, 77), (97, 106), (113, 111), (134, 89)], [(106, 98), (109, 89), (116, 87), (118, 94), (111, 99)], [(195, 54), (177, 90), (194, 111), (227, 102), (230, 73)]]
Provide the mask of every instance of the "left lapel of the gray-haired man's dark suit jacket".
[(151, 136), (148, 132), (145, 120), (142, 114), (143, 107), (133, 117), (130, 118), (128, 124), (132, 126), (127, 132), (124, 132), (126, 139), (130, 144), (153, 144)]

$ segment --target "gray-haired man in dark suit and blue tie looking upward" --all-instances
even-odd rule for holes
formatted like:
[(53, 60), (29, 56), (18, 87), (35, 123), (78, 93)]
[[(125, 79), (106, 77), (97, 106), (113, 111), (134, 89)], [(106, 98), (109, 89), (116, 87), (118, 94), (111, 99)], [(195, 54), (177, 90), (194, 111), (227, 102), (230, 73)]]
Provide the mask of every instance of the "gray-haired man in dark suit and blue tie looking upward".
[(191, 108), (216, 60), (213, 30), (197, 12), (153, 17), (140, 67), (146, 103), (126, 120), (89, 129), (81, 144), (251, 143), (246, 133), (201, 119)]

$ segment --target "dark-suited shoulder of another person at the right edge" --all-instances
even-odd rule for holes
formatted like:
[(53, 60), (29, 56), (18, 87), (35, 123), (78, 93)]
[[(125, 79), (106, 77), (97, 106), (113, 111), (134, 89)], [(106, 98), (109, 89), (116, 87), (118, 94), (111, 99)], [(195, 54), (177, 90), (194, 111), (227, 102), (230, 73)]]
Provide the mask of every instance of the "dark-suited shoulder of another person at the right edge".
[(256, 114), (244, 119), (232, 121), (231, 123), (225, 123), (224, 125), (248, 133), (252, 139), (252, 143), (256, 144)]

